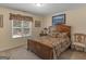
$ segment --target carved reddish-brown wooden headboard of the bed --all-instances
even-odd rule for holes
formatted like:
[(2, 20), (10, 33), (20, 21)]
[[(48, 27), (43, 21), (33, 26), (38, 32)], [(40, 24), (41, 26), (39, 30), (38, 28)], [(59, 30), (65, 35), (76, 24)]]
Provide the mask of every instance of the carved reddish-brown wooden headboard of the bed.
[(66, 33), (69, 37), (71, 37), (71, 26), (67, 25), (58, 25), (57, 30), (60, 33)]

